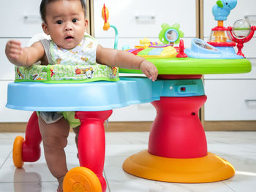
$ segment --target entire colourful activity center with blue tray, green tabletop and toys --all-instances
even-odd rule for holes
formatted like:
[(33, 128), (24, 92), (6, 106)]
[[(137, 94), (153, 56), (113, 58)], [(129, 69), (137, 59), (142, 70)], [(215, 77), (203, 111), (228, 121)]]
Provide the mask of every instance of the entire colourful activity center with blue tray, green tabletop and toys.
[[(86, 76), (89, 70), (93, 70), (94, 74), (100, 70), (91, 65), (67, 66), (65, 69), (58, 68), (62, 67), (58, 65), (15, 68), (15, 82), (8, 85), (8, 108), (75, 111), (75, 118), (80, 120), (80, 166), (67, 173), (64, 191), (106, 191), (102, 176), (105, 161), (104, 121), (117, 107), (147, 102), (151, 102), (157, 110), (148, 150), (129, 156), (123, 164), (125, 172), (149, 180), (175, 183), (208, 183), (233, 177), (233, 166), (208, 152), (198, 111), (206, 101), (202, 74), (251, 71), (249, 60), (241, 54), (241, 45), (252, 38), (255, 26), (246, 21), (238, 21), (233, 27), (223, 26), (223, 21), (236, 3), (235, 0), (223, 0), (214, 5), (212, 11), (218, 26), (212, 29), (208, 42), (193, 39), (191, 47), (185, 49), (183, 39), (180, 39), (184, 36), (180, 26), (163, 24), (159, 42), (142, 39), (140, 45), (126, 49), (157, 66), (159, 76), (155, 82), (146, 77), (118, 78), (117, 68), (110, 69), (105, 79), (99, 79), (101, 81), (86, 82), (93, 79)], [(111, 26), (105, 5), (102, 18), (104, 29), (108, 30)], [(112, 28), (117, 37), (116, 27)], [(177, 43), (179, 46), (173, 47)], [(238, 54), (233, 48), (236, 43)], [(59, 74), (61, 72), (70, 74), (64, 77), (64, 74)], [(119, 69), (119, 72), (140, 73), (130, 69)], [(83, 79), (76, 76), (78, 74)], [(53, 80), (53, 77), (56, 79)], [(15, 139), (12, 153), (15, 166), (20, 168), (24, 162), (37, 161), (41, 141), (37, 114), (33, 112), (25, 139)]]

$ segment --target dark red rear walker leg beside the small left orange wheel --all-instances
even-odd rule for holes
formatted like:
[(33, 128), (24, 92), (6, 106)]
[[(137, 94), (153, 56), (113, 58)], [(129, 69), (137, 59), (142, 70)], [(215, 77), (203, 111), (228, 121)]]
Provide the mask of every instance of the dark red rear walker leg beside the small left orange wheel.
[(23, 142), (22, 158), (24, 162), (34, 162), (40, 158), (42, 137), (38, 126), (37, 112), (33, 112), (26, 126), (25, 142)]

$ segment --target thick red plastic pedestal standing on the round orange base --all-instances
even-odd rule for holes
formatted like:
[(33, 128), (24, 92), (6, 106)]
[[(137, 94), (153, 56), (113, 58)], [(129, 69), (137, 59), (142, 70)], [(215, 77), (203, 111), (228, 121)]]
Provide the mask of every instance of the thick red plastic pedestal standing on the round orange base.
[(152, 104), (157, 117), (151, 128), (148, 152), (167, 158), (207, 155), (206, 135), (198, 111), (206, 96), (161, 97)]

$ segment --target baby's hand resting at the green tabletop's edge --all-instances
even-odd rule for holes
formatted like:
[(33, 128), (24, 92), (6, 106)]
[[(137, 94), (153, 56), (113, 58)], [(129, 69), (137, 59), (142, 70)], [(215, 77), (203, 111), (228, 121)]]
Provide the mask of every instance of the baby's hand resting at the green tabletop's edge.
[(154, 66), (154, 64), (152, 64), (151, 62), (146, 60), (142, 61), (142, 63), (140, 64), (140, 70), (141, 72), (143, 72), (143, 74), (146, 74), (146, 77), (148, 77), (150, 80), (157, 80), (157, 67)]

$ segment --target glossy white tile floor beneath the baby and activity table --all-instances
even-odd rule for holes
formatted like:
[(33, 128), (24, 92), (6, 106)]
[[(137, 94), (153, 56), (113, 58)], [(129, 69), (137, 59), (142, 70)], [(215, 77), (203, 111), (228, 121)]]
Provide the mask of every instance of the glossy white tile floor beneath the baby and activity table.
[[(58, 183), (48, 171), (42, 154), (39, 161), (26, 163), (23, 169), (12, 165), (12, 142), (20, 134), (0, 134), (0, 191), (1, 192), (52, 192)], [(23, 134), (21, 134), (23, 135)], [(144, 180), (124, 172), (121, 168), (129, 155), (147, 148), (148, 132), (106, 133), (105, 177), (107, 192), (251, 192), (256, 191), (256, 131), (206, 132), (208, 151), (230, 161), (236, 175), (229, 180), (182, 184)], [(67, 161), (69, 169), (78, 166), (74, 134), (69, 136)]]

